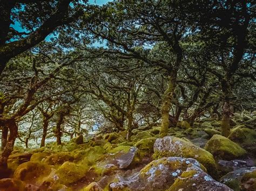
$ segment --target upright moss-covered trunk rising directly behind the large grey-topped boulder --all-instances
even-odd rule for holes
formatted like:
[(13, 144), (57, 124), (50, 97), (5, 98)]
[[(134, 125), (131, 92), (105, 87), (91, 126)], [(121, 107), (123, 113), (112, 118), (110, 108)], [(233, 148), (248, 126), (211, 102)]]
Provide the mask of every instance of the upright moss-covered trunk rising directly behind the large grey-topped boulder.
[(160, 129), (160, 137), (165, 137), (168, 133), (169, 128), (169, 111), (171, 108), (171, 100), (174, 91), (174, 78), (170, 75), (168, 76), (168, 87), (165, 90), (163, 103), (161, 108), (161, 129)]

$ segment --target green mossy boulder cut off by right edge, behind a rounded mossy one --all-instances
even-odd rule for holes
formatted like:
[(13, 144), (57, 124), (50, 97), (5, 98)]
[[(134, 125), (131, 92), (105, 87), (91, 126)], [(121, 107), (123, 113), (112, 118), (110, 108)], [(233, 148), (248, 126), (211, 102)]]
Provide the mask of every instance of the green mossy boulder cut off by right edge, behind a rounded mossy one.
[(237, 126), (231, 130), (228, 139), (238, 143), (245, 150), (256, 156), (256, 131), (254, 129), (245, 128), (244, 125)]

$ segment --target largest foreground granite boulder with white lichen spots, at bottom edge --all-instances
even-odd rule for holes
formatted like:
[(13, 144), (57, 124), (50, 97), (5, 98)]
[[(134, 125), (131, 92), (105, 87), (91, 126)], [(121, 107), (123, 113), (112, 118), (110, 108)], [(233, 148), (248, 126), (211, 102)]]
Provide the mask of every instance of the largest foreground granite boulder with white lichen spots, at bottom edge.
[[(117, 176), (116, 181), (110, 183), (110, 189), (115, 190), (198, 190), (197, 188), (206, 187), (208, 190), (231, 190), (227, 186), (215, 181), (207, 175), (204, 166), (191, 158), (164, 157), (150, 162), (138, 173), (123, 178)], [(179, 179), (185, 174), (194, 178), (186, 181), (187, 185), (192, 185), (190, 189), (185, 189)], [(191, 182), (190, 182), (191, 180)], [(183, 181), (183, 180), (181, 180)], [(196, 184), (196, 185), (194, 185)], [(178, 188), (178, 189), (176, 189)], [(183, 189), (182, 189), (183, 188)], [(203, 189), (202, 189), (203, 190)]]

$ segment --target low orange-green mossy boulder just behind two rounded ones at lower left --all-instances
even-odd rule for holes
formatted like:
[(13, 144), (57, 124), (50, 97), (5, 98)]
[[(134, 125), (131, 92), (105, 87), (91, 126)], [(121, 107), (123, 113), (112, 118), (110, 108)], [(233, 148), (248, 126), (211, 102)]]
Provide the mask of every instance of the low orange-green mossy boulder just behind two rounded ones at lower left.
[(45, 159), (45, 164), (48, 165), (62, 165), (66, 161), (72, 162), (75, 158), (70, 152), (59, 152), (51, 154)]

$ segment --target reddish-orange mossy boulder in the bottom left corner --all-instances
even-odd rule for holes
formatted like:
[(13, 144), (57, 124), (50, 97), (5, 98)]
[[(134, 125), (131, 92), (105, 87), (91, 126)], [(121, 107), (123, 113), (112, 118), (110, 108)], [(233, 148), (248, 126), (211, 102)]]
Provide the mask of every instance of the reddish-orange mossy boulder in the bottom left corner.
[(18, 190), (18, 191), (25, 191), (25, 183), (21, 180), (17, 179), (1, 179), (0, 180), (0, 190), (1, 191), (11, 191), (11, 190)]

